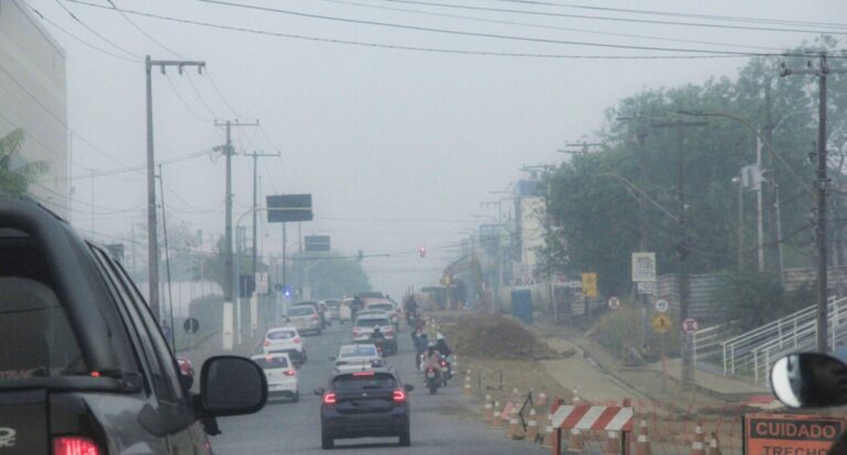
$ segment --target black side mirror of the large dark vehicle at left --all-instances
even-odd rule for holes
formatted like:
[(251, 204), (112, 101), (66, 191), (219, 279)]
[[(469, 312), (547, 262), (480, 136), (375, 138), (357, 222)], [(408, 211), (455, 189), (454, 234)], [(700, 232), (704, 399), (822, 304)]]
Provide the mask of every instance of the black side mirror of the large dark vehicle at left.
[(251, 414), (267, 401), (268, 380), (254, 361), (215, 356), (203, 364), (199, 397), (199, 412), (203, 416)]

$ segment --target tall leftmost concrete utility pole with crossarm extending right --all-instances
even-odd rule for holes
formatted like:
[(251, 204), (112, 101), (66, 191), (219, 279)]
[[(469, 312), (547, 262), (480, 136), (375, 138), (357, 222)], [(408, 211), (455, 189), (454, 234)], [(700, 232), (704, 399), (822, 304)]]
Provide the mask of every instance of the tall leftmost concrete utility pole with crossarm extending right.
[(176, 66), (182, 74), (185, 66), (196, 66), (203, 74), (205, 62), (196, 61), (154, 61), (148, 55), (144, 58), (144, 75), (147, 77), (147, 267), (148, 285), (150, 294), (150, 310), (160, 321), (159, 312), (159, 238), (156, 221), (156, 155), (153, 153), (153, 83), (151, 78), (153, 66), (164, 69), (168, 66)]

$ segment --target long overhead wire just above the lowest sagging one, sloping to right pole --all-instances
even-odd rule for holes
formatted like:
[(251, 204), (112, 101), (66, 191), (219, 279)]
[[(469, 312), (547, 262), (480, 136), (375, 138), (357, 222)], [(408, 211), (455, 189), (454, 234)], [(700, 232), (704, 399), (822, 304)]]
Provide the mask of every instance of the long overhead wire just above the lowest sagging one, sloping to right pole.
[(393, 28), (393, 29), (414, 30), (418, 32), (442, 33), (442, 34), (461, 35), (461, 36), (475, 36), (475, 37), (522, 41), (522, 42), (543, 43), (543, 44), (566, 44), (566, 45), (575, 45), (575, 46), (624, 48), (624, 50), (637, 50), (637, 51), (686, 52), (686, 53), (696, 53), (696, 54), (728, 54), (728, 55), (744, 55), (744, 56), (751, 55), (749, 53), (741, 53), (741, 52), (735, 52), (735, 51), (637, 46), (637, 45), (630, 45), (630, 44), (607, 44), (607, 43), (592, 43), (592, 42), (585, 42), (585, 41), (553, 40), (553, 39), (532, 37), (532, 36), (503, 35), (503, 34), (496, 34), (496, 33), (469, 32), (469, 31), (462, 31), (462, 30), (436, 29), (430, 26), (399, 24), (394, 22), (339, 18), (334, 15), (313, 14), (313, 13), (307, 13), (302, 11), (282, 10), (278, 8), (260, 7), (255, 4), (233, 3), (229, 1), (223, 1), (223, 0), (200, 0), (200, 1), (204, 3), (219, 4), (224, 7), (234, 7), (234, 8), (256, 10), (256, 11), (274, 12), (274, 13), (294, 15), (300, 18), (319, 19), (319, 20), (334, 21), (334, 22), (346, 22), (346, 23), (355, 23), (355, 24), (363, 24), (363, 25), (376, 25), (376, 26), (385, 26), (385, 28)]

